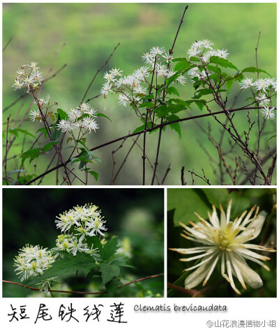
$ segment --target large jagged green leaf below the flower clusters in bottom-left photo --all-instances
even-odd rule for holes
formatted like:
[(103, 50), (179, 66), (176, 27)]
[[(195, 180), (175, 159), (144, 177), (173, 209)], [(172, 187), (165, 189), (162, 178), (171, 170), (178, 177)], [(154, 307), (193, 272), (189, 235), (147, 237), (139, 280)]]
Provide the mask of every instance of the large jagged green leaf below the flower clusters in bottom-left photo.
[(77, 255), (73, 256), (72, 254), (65, 253), (63, 254), (62, 259), (52, 263), (50, 269), (45, 270), (43, 275), (36, 277), (36, 279), (33, 279), (27, 285), (37, 284), (38, 282), (41, 282), (45, 279), (56, 276), (65, 278), (77, 270), (82, 270), (84, 276), (86, 277), (90, 270), (92, 268), (96, 268), (97, 266), (98, 265), (96, 265), (95, 260), (89, 254), (82, 254), (77, 252)]

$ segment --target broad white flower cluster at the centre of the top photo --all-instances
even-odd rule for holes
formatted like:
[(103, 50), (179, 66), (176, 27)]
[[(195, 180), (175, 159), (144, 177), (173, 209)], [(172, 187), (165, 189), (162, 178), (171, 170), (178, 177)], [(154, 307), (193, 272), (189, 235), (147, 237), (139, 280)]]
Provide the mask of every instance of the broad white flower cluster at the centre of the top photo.
[[(144, 66), (135, 70), (132, 75), (123, 76), (123, 70), (117, 68), (106, 72), (104, 75), (106, 82), (100, 93), (105, 98), (108, 93), (119, 93), (119, 104), (124, 107), (130, 103), (138, 105), (140, 98), (151, 86), (152, 72), (156, 79), (167, 79), (176, 73), (168, 67), (168, 63), (172, 62), (172, 55), (167, 53), (164, 47), (152, 47), (150, 52), (142, 56), (142, 60)], [(176, 77), (176, 82), (184, 85), (186, 77), (179, 75)]]

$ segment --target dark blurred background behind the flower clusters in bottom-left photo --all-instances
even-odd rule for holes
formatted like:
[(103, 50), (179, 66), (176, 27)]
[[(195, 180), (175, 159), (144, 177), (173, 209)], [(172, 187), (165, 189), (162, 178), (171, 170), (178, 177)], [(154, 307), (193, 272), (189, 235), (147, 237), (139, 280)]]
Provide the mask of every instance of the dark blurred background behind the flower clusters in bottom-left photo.
[[(119, 236), (119, 246), (130, 256), (129, 263), (135, 269), (123, 268), (123, 284), (164, 272), (163, 189), (3, 189), (3, 279), (20, 283), (13, 267), (19, 249), (27, 243), (49, 249), (55, 247), (60, 234), (54, 222), (56, 216), (85, 203), (100, 208), (107, 220), (107, 235)], [(88, 284), (86, 290), (80, 291), (102, 291), (98, 282), (89, 283), (82, 272), (79, 277), (77, 284)], [(73, 285), (71, 279), (67, 284)], [(163, 276), (146, 279), (119, 289), (115, 296), (163, 296), (163, 284)], [(60, 282), (54, 289), (70, 288)], [(27, 288), (3, 284), (3, 297), (29, 295), (44, 296)]]

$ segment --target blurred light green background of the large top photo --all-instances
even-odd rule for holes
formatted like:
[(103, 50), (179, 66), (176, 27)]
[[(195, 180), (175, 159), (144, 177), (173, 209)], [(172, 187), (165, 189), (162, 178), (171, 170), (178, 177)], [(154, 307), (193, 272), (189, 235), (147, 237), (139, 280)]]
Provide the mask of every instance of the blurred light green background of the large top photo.
[[(13, 37), (12, 42), (3, 53), (3, 108), (10, 105), (22, 91), (13, 91), (11, 85), (15, 72), (23, 63), (37, 61), (44, 74), (47, 73), (54, 53), (66, 42), (66, 47), (61, 49), (54, 63), (55, 72), (65, 63), (67, 67), (59, 75), (47, 82), (41, 95), (50, 94), (52, 102), (58, 102), (63, 110), (79, 105), (86, 87), (96, 70), (103, 65), (107, 56), (112, 52), (117, 43), (121, 45), (116, 50), (108, 66), (91, 86), (87, 97), (97, 95), (102, 86), (103, 73), (110, 68), (121, 68), (125, 75), (142, 66), (142, 54), (148, 52), (153, 46), (160, 45), (169, 49), (179, 26), (184, 8), (183, 3), (4, 3), (3, 4), (3, 45)], [(259, 68), (276, 75), (276, 3), (190, 3), (186, 16), (176, 40), (174, 57), (186, 56), (187, 50), (195, 40), (213, 40), (216, 48), (228, 49), (229, 61), (237, 68), (255, 66), (255, 46), (261, 31), (259, 41)], [(229, 70), (228, 70), (229, 71)], [(252, 76), (254, 75), (254, 76)], [(255, 74), (251, 74), (255, 77)], [(263, 76), (264, 77), (264, 76)], [(189, 83), (186, 87), (179, 88), (181, 98), (193, 96), (193, 86)], [(239, 86), (232, 87), (232, 99)], [(243, 106), (250, 95), (241, 93), (237, 105)], [(232, 100), (231, 99), (231, 100)], [(228, 103), (231, 105), (232, 101)], [(6, 128), (6, 119), (11, 116), (10, 127), (13, 120), (22, 118), (29, 105), (29, 101), (20, 108), (20, 103), (8, 109), (3, 114), (3, 124)], [(105, 118), (98, 118), (100, 130), (91, 134), (89, 146), (98, 146), (106, 141), (133, 132), (141, 125), (138, 118), (133, 116), (133, 111), (118, 105), (115, 95), (94, 99), (91, 105), (112, 119), (112, 123)], [(236, 107), (237, 107), (236, 105)], [(34, 109), (35, 107), (33, 107)], [(213, 108), (214, 110), (220, 110)], [(19, 113), (17, 114), (17, 111)], [(181, 112), (181, 117), (192, 114), (201, 114), (199, 109)], [(17, 115), (16, 115), (17, 114)], [(240, 131), (247, 130), (246, 112), (238, 112), (234, 117)], [(256, 113), (251, 112), (252, 120)], [(208, 119), (202, 118), (199, 123), (207, 128)], [(275, 133), (276, 123), (268, 121), (264, 140)], [(212, 132), (218, 135), (219, 126), (210, 121)], [(36, 132), (40, 123), (26, 121), (22, 129)], [(216, 148), (211, 145), (206, 134), (201, 134), (193, 122), (181, 124), (182, 138), (167, 128), (163, 134), (161, 153), (158, 166), (159, 181), (163, 179), (169, 162), (172, 170), (167, 176), (165, 184), (179, 185), (181, 167), (186, 170), (195, 170), (201, 174), (204, 169), (211, 184), (218, 183), (214, 180), (208, 157), (197, 143), (206, 148), (212, 157), (217, 158)], [(253, 130), (256, 130), (255, 128)], [(256, 131), (255, 131), (256, 132)], [(214, 136), (213, 134), (213, 136)], [(27, 136), (28, 137), (28, 136)], [(148, 134), (146, 153), (155, 160), (158, 133)], [(226, 137), (226, 136), (225, 136)], [(27, 141), (32, 142), (28, 137)], [(275, 144), (275, 140), (270, 144)], [(22, 134), (16, 139), (15, 145), (8, 156), (21, 153)], [(139, 140), (142, 143), (142, 138)], [(251, 137), (252, 144), (255, 139)], [(123, 148), (116, 153), (116, 169), (121, 164), (133, 141), (126, 141)], [(30, 145), (30, 144), (29, 144)], [(98, 171), (98, 182), (91, 178), (90, 184), (107, 185), (112, 174), (112, 151), (119, 144), (102, 148), (96, 153), (103, 160), (103, 164), (96, 164), (93, 170)], [(25, 144), (27, 150), (28, 144)], [(262, 144), (262, 148), (266, 148)], [(67, 151), (66, 151), (67, 152)], [(53, 152), (52, 152), (53, 153)], [(52, 153), (40, 157), (37, 174), (43, 172)], [(137, 185), (142, 183), (142, 152), (135, 146), (128, 158), (116, 185)], [(12, 159), (8, 164), (8, 171), (18, 169), (20, 162)], [(33, 166), (26, 162), (29, 173), (33, 174)], [(55, 174), (49, 174), (43, 184), (52, 184)], [(148, 168), (146, 183), (151, 179), (151, 169)], [(191, 183), (190, 174), (186, 171), (186, 182)], [(273, 178), (274, 179), (274, 178)], [(75, 181), (74, 183), (77, 183)], [(229, 179), (225, 178), (225, 183)], [(204, 185), (199, 178), (195, 184)]]

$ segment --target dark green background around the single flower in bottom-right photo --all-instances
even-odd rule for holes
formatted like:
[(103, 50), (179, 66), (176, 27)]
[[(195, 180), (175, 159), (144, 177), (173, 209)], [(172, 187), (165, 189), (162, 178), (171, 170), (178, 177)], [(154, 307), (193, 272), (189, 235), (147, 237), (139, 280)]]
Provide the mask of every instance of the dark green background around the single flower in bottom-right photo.
[[(262, 227), (261, 233), (251, 240), (250, 243), (259, 245), (264, 243), (266, 247), (276, 247), (276, 189), (250, 188), (250, 189), (168, 189), (167, 190), (167, 282), (184, 287), (186, 273), (184, 269), (192, 267), (195, 261), (182, 262), (179, 259), (186, 258), (177, 252), (170, 251), (169, 248), (190, 248), (200, 246), (199, 243), (187, 240), (181, 236), (183, 228), (179, 222), (188, 224), (189, 221), (198, 222), (198, 218), (194, 212), (199, 214), (204, 220), (209, 220), (207, 211), (212, 214), (212, 205), (216, 206), (218, 217), (220, 217), (219, 203), (222, 204), (225, 213), (227, 213), (227, 205), (229, 199), (232, 199), (231, 220), (239, 217), (244, 210), (250, 210), (252, 206), (259, 206), (259, 213), (265, 212), (266, 219)], [(257, 252), (257, 251), (255, 251)], [(264, 252), (259, 254), (265, 255)], [(246, 260), (250, 268), (255, 270), (262, 278), (264, 285), (260, 288), (251, 288), (247, 286), (247, 290), (243, 290), (237, 277), (234, 277), (236, 288), (241, 291), (241, 297), (259, 297), (273, 298), (276, 297), (276, 253), (270, 253), (268, 256), (270, 261), (264, 262), (270, 272), (266, 271), (261, 265), (253, 261)], [(195, 270), (194, 270), (195, 271)], [(187, 275), (190, 275), (189, 271)], [(202, 290), (209, 287), (209, 291), (204, 293), (206, 298), (218, 297), (235, 297), (239, 295), (234, 292), (229, 283), (222, 277), (220, 272), (220, 261), (216, 265), (213, 274), (209, 278), (206, 286), (199, 284), (195, 290)], [(176, 291), (168, 288), (168, 297), (186, 297), (190, 296), (181, 291)]]

